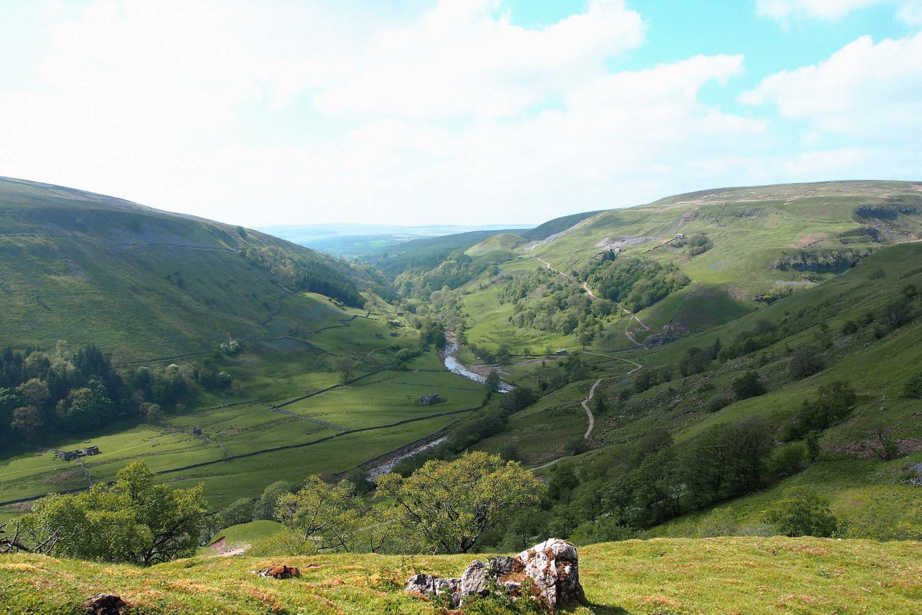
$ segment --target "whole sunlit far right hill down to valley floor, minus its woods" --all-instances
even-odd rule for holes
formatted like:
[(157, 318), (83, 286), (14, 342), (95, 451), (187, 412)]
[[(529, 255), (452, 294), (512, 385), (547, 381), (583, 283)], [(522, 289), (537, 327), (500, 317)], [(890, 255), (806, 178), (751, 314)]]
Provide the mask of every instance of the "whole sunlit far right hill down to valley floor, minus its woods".
[[(623, 303), (639, 311), (649, 328), (603, 322), (606, 347), (629, 349), (634, 342), (619, 333), (618, 326), (621, 331), (625, 326), (637, 328), (634, 337), (640, 343), (647, 337), (658, 343), (652, 336), (674, 339), (702, 332), (835, 278), (882, 247), (915, 242), (922, 232), (920, 207), (919, 183), (828, 182), (708, 190), (640, 207), (590, 212), (566, 218), (572, 223), (566, 227), (558, 223), (563, 219), (552, 221), (548, 230), (555, 232), (539, 241), (496, 235), (469, 248), (468, 255), (506, 260), (490, 276), (481, 274), (461, 288), (458, 301), (468, 308), (467, 324), (478, 344), (496, 348), (508, 337), (521, 340), (521, 348), (527, 337), (537, 336), (545, 339), (532, 346), (550, 341), (571, 348), (575, 336), (548, 340), (534, 327), (523, 330), (504, 322), (520, 307), (514, 302), (498, 304), (495, 288), (532, 270), (529, 265), (534, 264), (561, 272), (559, 284), (578, 289), (587, 281), (600, 296), (624, 302), (628, 292), (616, 296), (605, 279), (611, 276), (605, 271), (609, 260), (616, 268), (632, 262), (656, 264), (662, 269), (659, 278), (669, 270), (683, 274), (684, 284), (650, 299), (641, 301), (638, 294), (637, 301)], [(527, 232), (520, 236), (530, 237)], [(440, 262), (434, 269), (443, 266)], [(405, 296), (426, 299), (428, 292), (440, 290), (431, 278), (442, 279), (425, 272), (405, 274)], [(543, 292), (549, 291), (554, 289), (545, 286)], [(525, 303), (530, 302), (526, 298)]]

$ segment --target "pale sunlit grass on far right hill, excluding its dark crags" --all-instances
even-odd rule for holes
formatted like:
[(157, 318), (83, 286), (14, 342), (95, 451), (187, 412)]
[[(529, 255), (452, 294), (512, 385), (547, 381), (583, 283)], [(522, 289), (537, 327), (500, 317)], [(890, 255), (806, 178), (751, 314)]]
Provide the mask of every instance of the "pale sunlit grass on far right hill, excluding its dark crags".
[[(709, 302), (716, 300), (718, 307), (700, 321), (701, 313), (696, 310), (677, 312), (668, 309), (671, 305), (662, 306), (648, 313), (649, 324), (665, 325), (671, 319), (674, 324), (700, 331), (751, 310), (747, 298), (790, 284), (802, 285), (808, 279), (822, 281), (834, 276), (768, 266), (782, 255), (803, 250), (865, 250), (915, 240), (922, 231), (922, 216), (901, 214), (898, 219), (881, 220), (860, 219), (855, 214), (858, 206), (886, 205), (896, 200), (918, 207), (922, 205), (922, 189), (918, 183), (907, 182), (833, 182), (709, 190), (604, 212), (552, 242), (539, 244), (534, 254), (561, 271), (569, 271), (602, 251), (599, 243), (604, 240), (644, 238), (639, 244), (623, 246), (625, 255), (679, 266), (696, 282), (696, 292), (706, 293)], [(881, 231), (881, 242), (842, 241), (842, 233), (867, 226)], [(688, 248), (667, 243), (677, 232), (689, 237), (706, 233), (714, 247), (690, 256)]]

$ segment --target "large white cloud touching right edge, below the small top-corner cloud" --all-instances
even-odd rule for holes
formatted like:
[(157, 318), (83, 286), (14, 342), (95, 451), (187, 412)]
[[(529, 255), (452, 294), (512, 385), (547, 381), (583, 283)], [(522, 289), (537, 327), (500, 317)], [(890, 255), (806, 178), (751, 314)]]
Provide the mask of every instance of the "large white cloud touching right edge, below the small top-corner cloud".
[(864, 36), (817, 65), (765, 77), (740, 100), (774, 103), (782, 116), (870, 142), (917, 141), (922, 132), (922, 33), (875, 44)]

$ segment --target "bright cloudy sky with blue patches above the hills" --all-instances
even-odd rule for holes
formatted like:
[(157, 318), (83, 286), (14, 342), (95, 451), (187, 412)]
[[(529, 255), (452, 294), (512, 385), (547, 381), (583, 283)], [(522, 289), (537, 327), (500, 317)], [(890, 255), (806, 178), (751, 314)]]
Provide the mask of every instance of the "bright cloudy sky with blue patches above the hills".
[(232, 224), (922, 180), (922, 0), (0, 0), (0, 175)]

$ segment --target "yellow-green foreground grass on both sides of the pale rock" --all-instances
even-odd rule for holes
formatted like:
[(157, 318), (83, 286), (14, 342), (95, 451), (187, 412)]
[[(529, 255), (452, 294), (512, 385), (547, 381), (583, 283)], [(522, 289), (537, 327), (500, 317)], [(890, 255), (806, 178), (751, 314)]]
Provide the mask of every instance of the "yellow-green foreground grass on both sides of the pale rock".
[[(593, 545), (580, 557), (589, 604), (567, 612), (909, 614), (922, 600), (918, 542), (657, 538)], [(403, 594), (406, 578), (460, 574), (473, 558), (197, 557), (143, 570), (7, 556), (0, 559), (0, 612), (77, 613), (86, 597), (110, 592), (147, 614), (432, 613), (429, 603)], [(301, 579), (250, 572), (281, 562), (300, 566)]]

